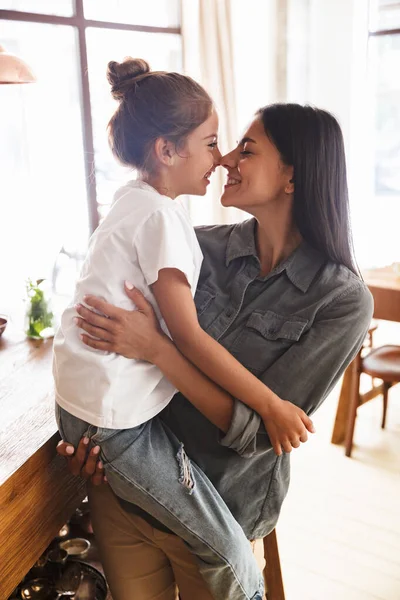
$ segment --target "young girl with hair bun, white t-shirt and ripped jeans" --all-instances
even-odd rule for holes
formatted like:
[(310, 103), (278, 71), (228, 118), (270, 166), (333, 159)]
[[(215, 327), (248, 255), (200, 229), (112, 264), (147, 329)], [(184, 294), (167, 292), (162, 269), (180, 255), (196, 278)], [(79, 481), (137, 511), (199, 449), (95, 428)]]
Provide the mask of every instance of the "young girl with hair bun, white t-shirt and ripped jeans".
[[(197, 556), (217, 600), (261, 598), (262, 578), (243, 531), (231, 524), (223, 536), (204, 535), (204, 506), (197, 505), (201, 477), (176, 438), (154, 418), (176, 392), (154, 365), (85, 346), (74, 323), (74, 306), (85, 295), (102, 296), (128, 310), (123, 282), (132, 281), (154, 307), (160, 325), (205, 375), (199, 393), (209, 402), (228, 390), (262, 417), (277, 454), (306, 441), (312, 422), (279, 399), (199, 326), (193, 295), (202, 254), (181, 194), (204, 195), (218, 164), (218, 119), (212, 100), (195, 81), (178, 73), (151, 72), (140, 59), (109, 63), (108, 80), (119, 106), (109, 123), (116, 157), (139, 172), (120, 188), (93, 234), (73, 305), (64, 312), (54, 341), (57, 419), (63, 439), (83, 434), (101, 446), (113, 491), (180, 535)], [(226, 329), (232, 315), (222, 314)], [(209, 379), (207, 379), (207, 377)], [(217, 384), (217, 385), (216, 385)], [(219, 388), (218, 386), (221, 386)], [(152, 436), (153, 456), (138, 440)], [(171, 466), (179, 469), (171, 478)], [(160, 501), (156, 490), (163, 490)], [(189, 493), (185, 493), (189, 492)], [(210, 489), (212, 503), (213, 490)], [(216, 515), (221, 513), (216, 507)]]

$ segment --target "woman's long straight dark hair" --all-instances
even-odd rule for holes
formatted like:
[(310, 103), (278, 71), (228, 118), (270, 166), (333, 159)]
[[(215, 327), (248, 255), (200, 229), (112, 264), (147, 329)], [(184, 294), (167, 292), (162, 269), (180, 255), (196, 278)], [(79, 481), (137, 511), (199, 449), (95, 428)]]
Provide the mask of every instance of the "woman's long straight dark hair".
[(327, 258), (359, 275), (339, 123), (325, 110), (300, 104), (271, 104), (257, 116), (282, 161), (293, 166), (294, 220), (301, 235)]

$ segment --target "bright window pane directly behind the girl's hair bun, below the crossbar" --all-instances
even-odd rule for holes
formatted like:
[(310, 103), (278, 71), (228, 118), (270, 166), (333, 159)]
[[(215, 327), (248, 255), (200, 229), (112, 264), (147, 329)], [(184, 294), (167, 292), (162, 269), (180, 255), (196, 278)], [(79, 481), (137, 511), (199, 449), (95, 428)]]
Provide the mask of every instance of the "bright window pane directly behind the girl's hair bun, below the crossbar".
[(181, 36), (89, 28), (87, 47), (97, 201), (100, 216), (104, 216), (117, 187), (126, 179), (132, 178), (132, 172), (116, 162), (108, 146), (106, 127), (117, 103), (111, 97), (106, 78), (107, 64), (110, 60), (122, 61), (125, 56), (133, 56), (146, 59), (152, 69), (180, 71)]

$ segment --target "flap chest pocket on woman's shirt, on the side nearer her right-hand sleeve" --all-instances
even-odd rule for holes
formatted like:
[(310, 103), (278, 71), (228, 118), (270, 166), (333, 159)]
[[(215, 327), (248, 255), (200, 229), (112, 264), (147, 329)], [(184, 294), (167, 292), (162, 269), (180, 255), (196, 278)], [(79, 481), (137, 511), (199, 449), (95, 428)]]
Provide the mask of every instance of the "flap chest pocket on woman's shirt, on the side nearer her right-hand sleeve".
[(306, 331), (308, 320), (279, 315), (271, 310), (255, 311), (236, 338), (232, 354), (250, 371), (268, 369)]

